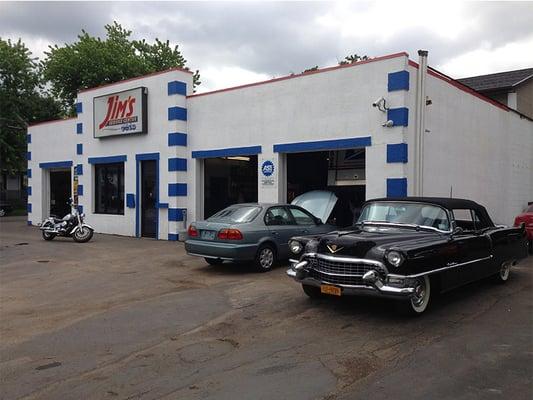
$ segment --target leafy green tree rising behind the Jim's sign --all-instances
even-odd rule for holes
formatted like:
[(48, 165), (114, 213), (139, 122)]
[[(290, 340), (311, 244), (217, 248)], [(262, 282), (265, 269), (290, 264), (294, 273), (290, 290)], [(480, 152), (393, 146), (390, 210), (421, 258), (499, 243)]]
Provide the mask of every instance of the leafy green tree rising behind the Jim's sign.
[[(61, 100), (65, 110), (74, 113), (74, 102), (80, 89), (134, 78), (173, 67), (187, 69), (186, 60), (168, 40), (150, 44), (132, 40), (132, 31), (117, 22), (106, 25), (106, 38), (89, 35), (82, 30), (78, 40), (63, 46), (49, 46), (42, 62), (43, 74), (52, 93)], [(199, 85), (200, 74), (194, 74)]]

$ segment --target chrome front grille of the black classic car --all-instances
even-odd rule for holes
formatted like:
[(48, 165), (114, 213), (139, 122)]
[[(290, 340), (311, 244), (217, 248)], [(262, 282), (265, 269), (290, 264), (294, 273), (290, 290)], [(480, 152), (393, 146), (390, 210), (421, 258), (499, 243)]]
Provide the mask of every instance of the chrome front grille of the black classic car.
[(309, 277), (336, 285), (364, 285), (363, 275), (371, 270), (377, 271), (382, 277), (387, 275), (385, 266), (372, 260), (321, 254), (307, 260), (310, 267)]

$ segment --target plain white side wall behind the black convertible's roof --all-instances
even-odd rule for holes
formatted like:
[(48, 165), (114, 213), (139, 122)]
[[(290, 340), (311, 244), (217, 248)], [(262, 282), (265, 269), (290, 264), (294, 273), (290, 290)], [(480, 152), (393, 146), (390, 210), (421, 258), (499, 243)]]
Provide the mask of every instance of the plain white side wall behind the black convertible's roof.
[[(409, 71), (414, 111), (417, 69)], [(454, 197), (484, 205), (497, 224), (512, 224), (533, 201), (533, 122), (433, 75), (426, 84), (432, 104), (426, 114), (423, 194), (449, 197), (453, 186)], [(413, 135), (410, 129), (411, 143)]]

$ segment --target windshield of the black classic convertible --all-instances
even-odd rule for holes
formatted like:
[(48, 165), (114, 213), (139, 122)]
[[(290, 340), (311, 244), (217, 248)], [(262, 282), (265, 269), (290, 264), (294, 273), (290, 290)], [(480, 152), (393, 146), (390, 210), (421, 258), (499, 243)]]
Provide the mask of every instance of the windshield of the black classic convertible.
[(364, 207), (357, 222), (409, 224), (441, 231), (450, 230), (450, 221), (444, 209), (423, 203), (370, 203)]

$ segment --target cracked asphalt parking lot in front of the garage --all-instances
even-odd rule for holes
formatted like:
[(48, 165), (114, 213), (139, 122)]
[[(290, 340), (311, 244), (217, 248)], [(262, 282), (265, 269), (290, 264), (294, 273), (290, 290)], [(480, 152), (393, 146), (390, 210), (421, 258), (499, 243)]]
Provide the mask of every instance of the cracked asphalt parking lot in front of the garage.
[(0, 240), (2, 399), (533, 398), (532, 257), (407, 318), (176, 242)]

